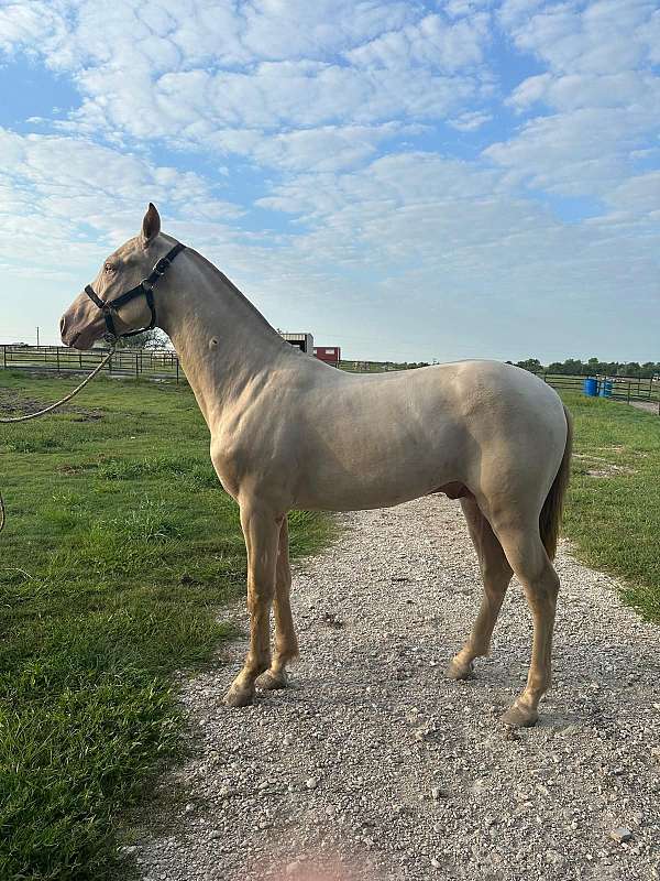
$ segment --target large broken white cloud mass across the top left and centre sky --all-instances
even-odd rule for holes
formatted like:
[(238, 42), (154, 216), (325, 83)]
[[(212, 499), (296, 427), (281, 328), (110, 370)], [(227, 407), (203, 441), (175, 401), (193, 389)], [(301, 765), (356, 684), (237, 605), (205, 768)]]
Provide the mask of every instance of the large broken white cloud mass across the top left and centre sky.
[[(421, 3), (78, 0), (72, 15), (66, 0), (37, 0), (21, 28), (16, 18), (0, 19), (0, 45), (42, 52), (80, 90), (56, 124), (118, 145), (157, 138), (290, 167), (272, 134), (286, 143), (296, 129), (443, 119), (490, 88), (465, 69), (483, 59), (487, 14), (452, 23)], [(378, 63), (393, 41), (400, 57)], [(370, 155), (364, 142), (358, 153)]]

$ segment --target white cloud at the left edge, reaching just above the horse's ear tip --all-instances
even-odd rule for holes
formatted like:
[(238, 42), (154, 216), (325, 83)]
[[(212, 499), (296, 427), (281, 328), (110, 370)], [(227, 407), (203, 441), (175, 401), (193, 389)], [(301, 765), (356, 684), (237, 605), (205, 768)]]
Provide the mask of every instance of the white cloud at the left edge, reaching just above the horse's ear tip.
[(101, 253), (99, 243), (135, 235), (135, 206), (150, 200), (211, 225), (242, 213), (196, 174), (87, 141), (0, 129), (0, 241), (10, 262), (80, 265)]

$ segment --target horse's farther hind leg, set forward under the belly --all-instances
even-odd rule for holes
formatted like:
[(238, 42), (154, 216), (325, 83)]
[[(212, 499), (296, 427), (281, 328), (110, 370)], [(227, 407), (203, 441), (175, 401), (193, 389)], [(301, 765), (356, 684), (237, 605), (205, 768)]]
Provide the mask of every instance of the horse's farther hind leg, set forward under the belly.
[(476, 501), (473, 498), (464, 498), (461, 499), (461, 505), (479, 556), (484, 594), (472, 633), (447, 668), (447, 675), (453, 679), (468, 678), (472, 673), (474, 659), (488, 654), (493, 628), (513, 575), (502, 545)]

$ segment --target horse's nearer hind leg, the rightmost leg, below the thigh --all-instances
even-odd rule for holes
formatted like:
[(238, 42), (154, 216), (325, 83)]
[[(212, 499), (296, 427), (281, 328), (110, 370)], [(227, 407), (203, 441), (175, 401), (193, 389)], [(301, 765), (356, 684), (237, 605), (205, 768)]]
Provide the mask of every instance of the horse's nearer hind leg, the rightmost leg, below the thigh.
[[(496, 529), (497, 529), (497, 524)], [(538, 717), (538, 705), (550, 687), (552, 631), (559, 577), (541, 542), (538, 519), (528, 527), (497, 529), (506, 556), (525, 589), (534, 619), (531, 663), (525, 689), (503, 715), (506, 725), (529, 726)]]

